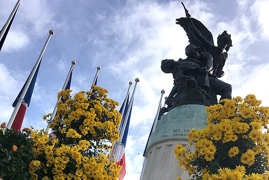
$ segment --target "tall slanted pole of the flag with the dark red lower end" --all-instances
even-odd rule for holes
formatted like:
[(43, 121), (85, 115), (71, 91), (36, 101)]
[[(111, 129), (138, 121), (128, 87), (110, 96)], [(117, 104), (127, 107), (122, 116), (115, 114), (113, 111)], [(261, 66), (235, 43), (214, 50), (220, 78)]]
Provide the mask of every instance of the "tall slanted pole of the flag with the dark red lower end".
[(39, 57), (38, 57), (38, 59), (37, 59), (37, 61), (36, 61), (36, 64), (35, 64), (33, 70), (31, 71), (31, 73), (30, 73), (30, 75), (29, 75), (28, 81), (26, 82), (26, 84), (25, 84), (25, 86), (24, 86), (24, 89), (23, 89), (23, 91), (22, 91), (22, 94), (21, 94), (20, 98), (18, 99), (18, 102), (17, 102), (17, 104), (16, 104), (16, 106), (15, 106), (15, 109), (14, 109), (14, 111), (13, 111), (13, 113), (12, 113), (12, 115), (11, 115), (9, 121), (8, 121), (8, 124), (7, 124), (7, 126), (6, 126), (7, 129), (10, 129), (11, 126), (12, 126), (12, 124), (13, 124), (13, 122), (14, 122), (14, 119), (15, 119), (15, 117), (16, 117), (18, 111), (19, 111), (19, 108), (20, 108), (22, 102), (23, 102), (23, 98), (24, 98), (24, 96), (25, 96), (25, 94), (26, 94), (26, 92), (27, 92), (27, 90), (28, 90), (28, 88), (29, 88), (29, 85), (30, 85), (30, 83), (31, 83), (31, 81), (32, 81), (32, 79), (33, 79), (33, 77), (34, 77), (34, 74), (35, 74), (35, 72), (36, 72), (36, 70), (37, 70), (37, 67), (38, 67), (38, 65), (39, 65), (39, 63), (40, 63), (40, 61), (41, 61), (41, 58), (42, 58), (42, 56), (43, 56), (43, 54), (44, 54), (44, 52), (45, 52), (45, 49), (46, 49), (46, 47), (47, 47), (47, 44), (48, 44), (48, 42), (49, 42), (49, 40), (50, 40), (50, 38), (51, 38), (51, 36), (52, 36), (53, 34), (54, 34), (53, 30), (49, 30), (49, 35), (48, 35), (48, 37), (47, 37), (47, 40), (46, 40), (46, 42), (45, 42), (45, 45), (44, 45), (44, 47), (43, 47), (43, 49), (42, 49), (42, 51), (41, 51), (41, 53), (40, 53), (40, 55), (39, 55)]

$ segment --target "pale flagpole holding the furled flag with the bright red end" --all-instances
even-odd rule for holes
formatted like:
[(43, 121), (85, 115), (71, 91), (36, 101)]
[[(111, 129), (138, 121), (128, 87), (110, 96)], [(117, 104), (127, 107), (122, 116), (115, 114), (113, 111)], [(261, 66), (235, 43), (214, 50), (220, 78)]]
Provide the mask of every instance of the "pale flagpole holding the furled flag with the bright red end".
[[(133, 91), (133, 94), (132, 94), (132, 97), (130, 99), (130, 103), (129, 103), (129, 106), (128, 106), (128, 109), (127, 109), (127, 112), (126, 112), (126, 116), (124, 118), (124, 121), (123, 121), (123, 124), (122, 124), (122, 129), (120, 131), (120, 135), (119, 135), (119, 141), (116, 142), (116, 143), (119, 143), (121, 145), (121, 141), (122, 141), (122, 138), (123, 138), (123, 134), (124, 134), (124, 131), (125, 131), (125, 127), (126, 127), (126, 124), (127, 124), (127, 119), (129, 117), (129, 113), (130, 113), (130, 110), (131, 110), (131, 107), (132, 107), (132, 104), (133, 104), (133, 100), (134, 100), (134, 94), (135, 94), (135, 91), (136, 91), (136, 86), (137, 86), (137, 83), (139, 82), (139, 78), (136, 78), (135, 79), (135, 84), (134, 84), (134, 91)], [(117, 156), (119, 154), (119, 149), (120, 149), (120, 146), (115, 146), (115, 159), (117, 159)]]

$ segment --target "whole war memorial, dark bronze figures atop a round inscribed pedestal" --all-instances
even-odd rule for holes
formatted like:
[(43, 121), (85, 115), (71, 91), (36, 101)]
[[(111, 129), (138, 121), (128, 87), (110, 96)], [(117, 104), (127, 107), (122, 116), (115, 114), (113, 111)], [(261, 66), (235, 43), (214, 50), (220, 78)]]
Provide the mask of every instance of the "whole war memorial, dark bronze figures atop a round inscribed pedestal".
[(149, 138), (140, 180), (176, 180), (177, 177), (188, 180), (188, 172), (179, 169), (173, 149), (181, 144), (193, 151), (187, 135), (193, 128), (206, 127), (205, 108), (218, 103), (217, 95), (231, 99), (231, 85), (219, 79), (224, 76), (231, 36), (224, 30), (215, 46), (211, 32), (199, 20), (191, 18), (182, 5), (186, 17), (177, 19), (176, 24), (183, 27), (189, 38), (190, 44), (185, 48), (187, 58), (161, 61), (161, 70), (173, 74), (174, 87), (165, 101), (168, 106), (161, 109), (161, 119)]

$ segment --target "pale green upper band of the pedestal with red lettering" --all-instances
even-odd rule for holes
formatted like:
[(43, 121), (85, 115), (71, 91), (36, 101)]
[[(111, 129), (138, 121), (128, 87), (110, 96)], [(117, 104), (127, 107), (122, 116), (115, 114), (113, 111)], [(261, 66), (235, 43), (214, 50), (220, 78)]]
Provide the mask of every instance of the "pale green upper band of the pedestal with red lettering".
[(188, 140), (187, 135), (191, 129), (204, 129), (207, 125), (206, 107), (198, 104), (180, 105), (161, 116), (155, 131), (150, 136), (147, 149), (167, 140)]

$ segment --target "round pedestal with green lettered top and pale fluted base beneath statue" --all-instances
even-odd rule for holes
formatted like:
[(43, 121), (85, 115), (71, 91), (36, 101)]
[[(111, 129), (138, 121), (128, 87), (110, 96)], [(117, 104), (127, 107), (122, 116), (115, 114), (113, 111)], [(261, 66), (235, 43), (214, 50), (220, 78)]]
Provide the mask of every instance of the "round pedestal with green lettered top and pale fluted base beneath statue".
[(157, 121), (146, 151), (146, 161), (140, 180), (188, 180), (188, 173), (179, 169), (179, 162), (174, 154), (178, 144), (189, 147), (188, 133), (191, 129), (204, 129), (207, 115), (204, 105), (181, 105), (163, 115)]

